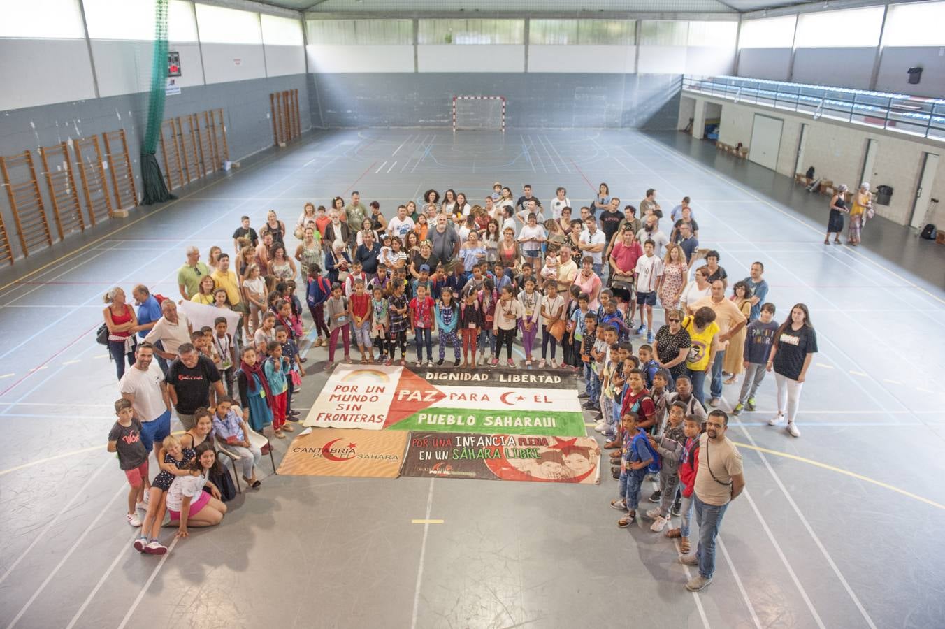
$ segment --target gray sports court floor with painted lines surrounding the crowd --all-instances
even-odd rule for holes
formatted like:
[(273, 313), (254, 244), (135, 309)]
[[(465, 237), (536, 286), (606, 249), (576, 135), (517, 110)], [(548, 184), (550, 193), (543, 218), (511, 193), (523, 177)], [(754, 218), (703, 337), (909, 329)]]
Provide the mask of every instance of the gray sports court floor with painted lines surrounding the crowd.
[[(229, 249), (243, 213), (294, 223), (305, 201), (359, 190), (389, 216), (427, 188), (475, 199), (496, 179), (542, 199), (564, 185), (575, 205), (599, 181), (634, 204), (654, 187), (665, 210), (690, 195), (731, 277), (763, 261), (782, 315), (810, 306), (821, 351), (803, 435), (765, 425), (771, 380), (730, 426), (747, 491), (713, 586), (685, 591), (668, 539), (617, 528), (609, 478), (268, 476), (163, 560), (131, 549), (127, 484), (105, 451), (117, 396), (93, 338), (102, 294), (145, 282), (174, 295), (184, 247)], [(326, 131), (0, 272), (0, 626), (945, 626), (945, 247), (882, 221), (867, 246), (823, 246), (827, 199), (782, 179), (681, 134)], [(298, 407), (325, 353), (308, 354)]]

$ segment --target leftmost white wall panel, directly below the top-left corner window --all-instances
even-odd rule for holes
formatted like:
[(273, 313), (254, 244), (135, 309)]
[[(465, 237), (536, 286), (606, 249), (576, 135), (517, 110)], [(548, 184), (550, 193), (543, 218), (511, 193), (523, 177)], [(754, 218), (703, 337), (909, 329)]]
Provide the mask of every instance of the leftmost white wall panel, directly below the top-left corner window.
[(0, 110), (94, 98), (85, 40), (0, 39)]

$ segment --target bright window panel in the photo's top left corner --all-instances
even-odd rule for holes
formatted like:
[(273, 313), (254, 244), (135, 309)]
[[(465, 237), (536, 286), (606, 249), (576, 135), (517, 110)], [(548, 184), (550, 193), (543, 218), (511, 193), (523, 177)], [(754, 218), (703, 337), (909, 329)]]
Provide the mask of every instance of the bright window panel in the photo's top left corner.
[(17, 0), (3, 3), (0, 37), (84, 39), (77, 0)]

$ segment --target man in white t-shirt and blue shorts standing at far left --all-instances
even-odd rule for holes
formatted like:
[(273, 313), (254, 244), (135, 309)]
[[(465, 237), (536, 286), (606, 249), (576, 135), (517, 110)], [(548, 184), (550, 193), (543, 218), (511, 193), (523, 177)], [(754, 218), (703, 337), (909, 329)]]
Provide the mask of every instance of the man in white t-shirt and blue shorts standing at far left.
[[(121, 397), (131, 402), (132, 416), (141, 422), (141, 443), (151, 451), (155, 441), (160, 444), (171, 433), (171, 399), (150, 343), (135, 348), (134, 365), (126, 369), (118, 389)], [(160, 448), (155, 450), (155, 458), (157, 450)]]

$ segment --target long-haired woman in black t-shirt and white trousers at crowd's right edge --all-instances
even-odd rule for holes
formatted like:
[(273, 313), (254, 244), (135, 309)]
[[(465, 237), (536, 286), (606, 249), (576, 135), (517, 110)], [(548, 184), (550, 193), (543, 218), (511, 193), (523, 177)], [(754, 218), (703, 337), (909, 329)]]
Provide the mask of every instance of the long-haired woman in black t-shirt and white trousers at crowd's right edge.
[(794, 304), (790, 316), (774, 333), (771, 356), (765, 368), (774, 369), (774, 380), (778, 384), (778, 415), (768, 420), (768, 425), (777, 426), (787, 411), (787, 432), (800, 436), (796, 419), (800, 401), (800, 388), (807, 380), (807, 369), (817, 351), (817, 335), (811, 314), (802, 303)]

